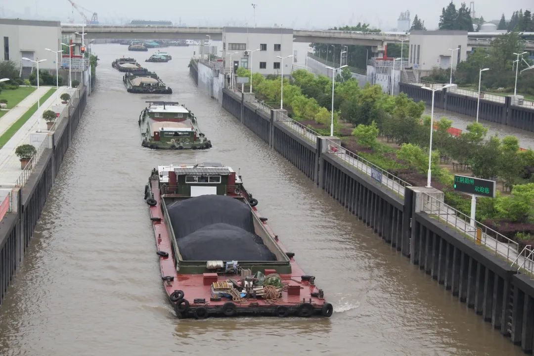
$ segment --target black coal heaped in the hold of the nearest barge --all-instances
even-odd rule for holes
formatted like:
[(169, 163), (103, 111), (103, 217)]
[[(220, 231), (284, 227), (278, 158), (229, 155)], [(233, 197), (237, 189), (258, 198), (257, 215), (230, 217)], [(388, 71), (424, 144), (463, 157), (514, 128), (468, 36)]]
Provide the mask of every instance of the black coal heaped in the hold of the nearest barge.
[(201, 195), (167, 208), (184, 260), (276, 261), (254, 234), (247, 204), (224, 195)]

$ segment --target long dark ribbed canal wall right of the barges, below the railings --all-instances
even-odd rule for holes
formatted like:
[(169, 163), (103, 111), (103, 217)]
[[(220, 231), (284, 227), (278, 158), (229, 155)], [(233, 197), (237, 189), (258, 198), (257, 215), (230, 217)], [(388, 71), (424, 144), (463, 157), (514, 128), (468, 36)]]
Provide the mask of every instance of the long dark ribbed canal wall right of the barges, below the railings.
[[(278, 120), (285, 110), (272, 109), (269, 114), (251, 104), (249, 95), (223, 89), (222, 106), (384, 242), (525, 352), (532, 351), (534, 280), (530, 276), (517, 273), (505, 259), (421, 212), (420, 188), (406, 187), (404, 196), (385, 188), (328, 150), (327, 140), (339, 142), (338, 138), (317, 137), (313, 143)], [(421, 100), (427, 100), (422, 93)]]

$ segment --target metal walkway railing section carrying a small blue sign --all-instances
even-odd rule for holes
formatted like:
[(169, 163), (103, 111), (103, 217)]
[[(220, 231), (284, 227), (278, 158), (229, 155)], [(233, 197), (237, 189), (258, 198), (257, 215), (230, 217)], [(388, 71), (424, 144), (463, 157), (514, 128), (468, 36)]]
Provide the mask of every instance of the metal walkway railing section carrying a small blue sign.
[(328, 144), (328, 153), (334, 154), (342, 161), (349, 163), (356, 169), (364, 172), (366, 175), (378, 181), (378, 183), (386, 186), (388, 189), (391, 189), (400, 196), (404, 196), (405, 187), (410, 186), (407, 181), (400, 179), (393, 173), (378, 167), (378, 165), (370, 161), (367, 161), (362, 156), (359, 156), (356, 153), (341, 147), (341, 145), (335, 143), (330, 139), (326, 139), (326, 141)]

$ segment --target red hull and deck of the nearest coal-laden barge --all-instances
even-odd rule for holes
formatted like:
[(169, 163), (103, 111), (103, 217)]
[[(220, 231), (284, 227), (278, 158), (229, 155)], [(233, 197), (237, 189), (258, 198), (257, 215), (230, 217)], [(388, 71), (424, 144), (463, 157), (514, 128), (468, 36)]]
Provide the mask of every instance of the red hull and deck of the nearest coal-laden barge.
[[(167, 226), (161, 209), (159, 182), (157, 179), (151, 179), (149, 184), (153, 198), (157, 202), (156, 205), (150, 207), (150, 216), (153, 222), (158, 255), (160, 255), (161, 278), (164, 281), (163, 285), (169, 296), (169, 300), (174, 305), (179, 318), (203, 319), (209, 316), (232, 317), (236, 315), (274, 315), (278, 317), (296, 315), (299, 317), (310, 317), (314, 314), (329, 317), (332, 314), (332, 305), (326, 303), (323, 298), (323, 291), (319, 290), (315, 284), (312, 284), (313, 281), (310, 282), (301, 279), (304, 272), (296, 264), (294, 257), (290, 257), (292, 273), (280, 274), (282, 282), (287, 284), (286, 288), (282, 290), (281, 300), (275, 303), (262, 298), (246, 299), (246, 303), (235, 303), (229, 298), (222, 298), (222, 300), (218, 301), (210, 300), (211, 282), (224, 282), (229, 278), (237, 278), (237, 276), (219, 274), (215, 277), (216, 279), (211, 279), (213, 278), (212, 276), (208, 281), (203, 274), (177, 273), (175, 267), (176, 262), (172, 253), (172, 242), (167, 233)], [(246, 194), (246, 192), (244, 193)], [(256, 216), (260, 217), (255, 207), (253, 211)], [(270, 227), (266, 225), (265, 221), (263, 221), (263, 224), (269, 234), (275, 238), (275, 235)], [(275, 240), (282, 251), (287, 252), (278, 239), (275, 238)], [(266, 271), (265, 274), (269, 272)], [(175, 291), (178, 290), (183, 291), (184, 295), (182, 298), (187, 299), (187, 303), (176, 303), (177, 293)], [(195, 299), (199, 298), (205, 299), (205, 302), (194, 303)], [(184, 310), (185, 304), (189, 305)]]

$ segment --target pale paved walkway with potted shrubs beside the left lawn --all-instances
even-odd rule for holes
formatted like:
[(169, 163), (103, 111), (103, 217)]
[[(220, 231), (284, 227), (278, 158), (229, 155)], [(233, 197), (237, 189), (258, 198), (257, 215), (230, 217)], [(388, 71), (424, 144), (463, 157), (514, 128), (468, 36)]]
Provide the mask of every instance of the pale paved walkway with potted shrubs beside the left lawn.
[[(39, 90), (41, 89), (44, 89), (44, 93), (46, 93), (50, 87), (48, 86), (45, 88), (39, 88)], [(60, 86), (59, 89), (50, 96), (50, 98), (46, 99), (44, 102), (41, 102), (41, 107), (37, 109), (32, 117), (30, 117), (28, 121), (26, 121), (26, 123), (22, 125), (17, 132), (15, 132), (13, 137), (7, 141), (4, 147), (0, 149), (0, 186), (14, 185), (22, 172), (20, 169), (19, 157), (15, 155), (15, 149), (18, 146), (23, 144), (33, 144), (37, 148), (40, 146), (42, 140), (48, 139), (50, 131), (46, 130), (46, 122), (42, 118), (43, 112), (51, 109), (51, 107), (54, 105), (65, 106), (61, 104), (61, 99), (59, 98), (60, 95), (64, 92), (68, 92), (72, 96), (75, 90), (76, 89), (68, 89), (66, 86)], [(41, 93), (40, 97), (43, 96), (44, 93)], [(32, 94), (35, 94), (35, 92)], [(20, 104), (22, 104), (23, 101), (21, 101)], [(33, 101), (29, 106), (35, 104), (36, 101), (37, 99), (35, 99), (35, 101)], [(13, 117), (11, 117), (13, 122), (17, 121), (18, 118), (28, 110), (28, 108), (29, 107), (25, 107), (19, 110), (17, 106), (11, 109), (11, 112), (13, 113), (10, 112), (5, 114), (2, 119), (0, 119), (0, 125), (3, 125), (2, 121), (9, 114), (13, 114)], [(18, 114), (18, 116), (14, 117), (15, 114)], [(3, 128), (4, 126), (0, 127)], [(4, 131), (6, 129), (4, 129)], [(37, 133), (37, 131), (41, 132)]]

